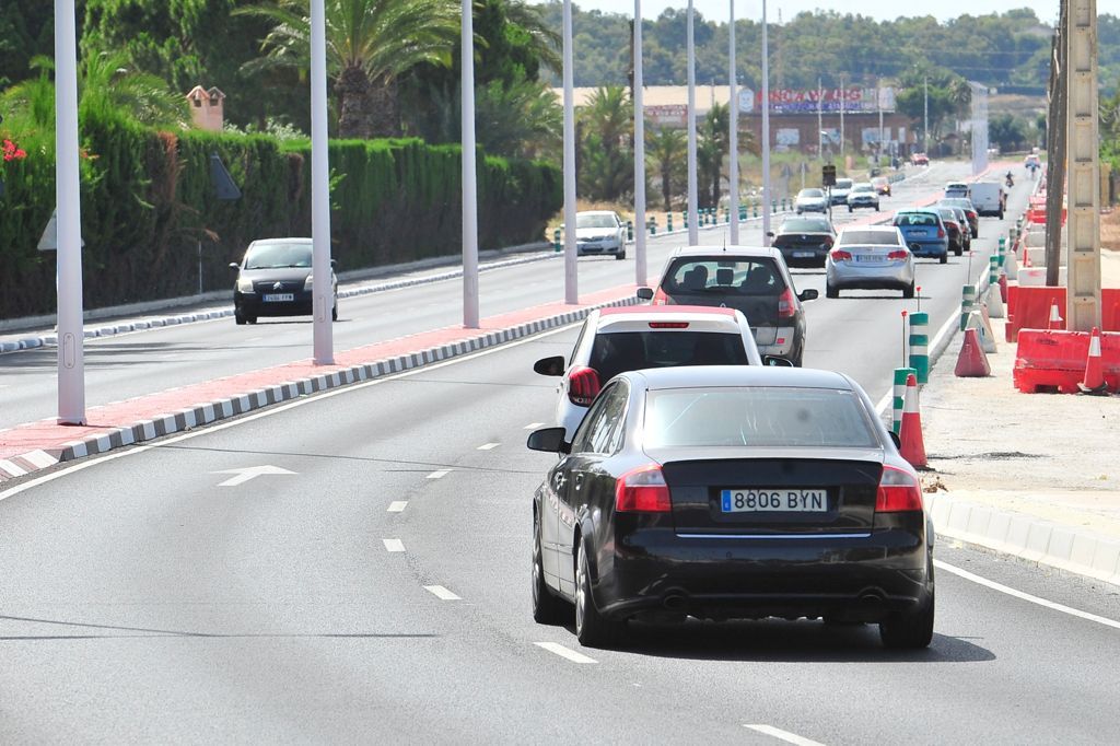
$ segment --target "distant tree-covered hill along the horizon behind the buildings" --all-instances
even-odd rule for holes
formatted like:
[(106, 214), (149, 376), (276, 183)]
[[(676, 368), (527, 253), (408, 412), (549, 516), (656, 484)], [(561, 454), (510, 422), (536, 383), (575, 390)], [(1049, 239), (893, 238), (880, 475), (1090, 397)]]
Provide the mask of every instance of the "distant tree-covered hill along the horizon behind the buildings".
[[(562, 4), (541, 7), (553, 28), (561, 27)], [(685, 11), (669, 9), (643, 22), (643, 73), (647, 85), (685, 81)], [(576, 85), (627, 83), (629, 17), (573, 9)], [(726, 21), (696, 17), (697, 82), (727, 84)], [(1102, 94), (1120, 83), (1120, 17), (1099, 19)], [(759, 85), (762, 25), (736, 24), (737, 57), (744, 85)], [(1053, 29), (1027, 8), (988, 16), (962, 16), (945, 24), (933, 17), (877, 21), (834, 11), (802, 12), (782, 26), (771, 22), (771, 84), (812, 88), (877, 78), (905, 80), (918, 71), (942, 68), (968, 80), (1018, 94), (1039, 94), (1049, 77)], [(557, 82), (559, 84), (559, 82)]]

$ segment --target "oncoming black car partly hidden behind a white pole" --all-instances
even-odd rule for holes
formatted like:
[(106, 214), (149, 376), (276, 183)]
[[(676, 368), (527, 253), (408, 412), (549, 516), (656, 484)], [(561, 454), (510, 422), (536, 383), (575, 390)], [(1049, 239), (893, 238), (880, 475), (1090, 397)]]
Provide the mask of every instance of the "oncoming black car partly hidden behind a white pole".
[[(334, 260), (330, 260), (332, 268)], [(234, 320), (256, 324), (259, 316), (310, 316), (311, 240), (262, 239), (245, 250), (233, 288)], [(338, 279), (330, 270), (330, 319), (338, 320)]]

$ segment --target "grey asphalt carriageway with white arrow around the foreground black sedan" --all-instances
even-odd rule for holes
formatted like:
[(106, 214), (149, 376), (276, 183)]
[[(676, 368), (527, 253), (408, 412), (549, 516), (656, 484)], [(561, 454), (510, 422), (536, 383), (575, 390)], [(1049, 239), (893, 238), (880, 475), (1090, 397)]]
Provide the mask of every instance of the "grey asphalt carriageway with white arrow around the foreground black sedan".
[[(814, 622), (646, 627), (624, 651), (534, 624), (531, 495), (552, 457), (524, 438), (553, 381), (531, 365), (573, 341), (0, 492), (0, 742), (1114, 743), (1120, 625), (945, 565), (917, 653)], [(291, 474), (222, 486), (265, 466)], [(1116, 588), (936, 557), (1120, 619)]]

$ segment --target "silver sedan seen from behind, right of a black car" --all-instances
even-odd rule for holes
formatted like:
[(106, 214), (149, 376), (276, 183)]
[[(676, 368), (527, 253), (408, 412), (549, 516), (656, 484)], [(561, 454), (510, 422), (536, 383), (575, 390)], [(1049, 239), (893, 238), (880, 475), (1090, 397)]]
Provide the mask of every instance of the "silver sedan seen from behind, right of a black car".
[(862, 225), (840, 231), (824, 262), (824, 296), (840, 290), (902, 290), (914, 297), (914, 254), (893, 225)]

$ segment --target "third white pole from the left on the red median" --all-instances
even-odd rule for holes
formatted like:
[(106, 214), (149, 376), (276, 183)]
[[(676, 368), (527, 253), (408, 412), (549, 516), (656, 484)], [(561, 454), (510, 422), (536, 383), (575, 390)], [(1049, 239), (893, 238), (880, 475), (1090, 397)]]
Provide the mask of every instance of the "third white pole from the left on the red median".
[(459, 87), (463, 105), (463, 326), (478, 328), (478, 171), (475, 167), (474, 3), (463, 0)]

